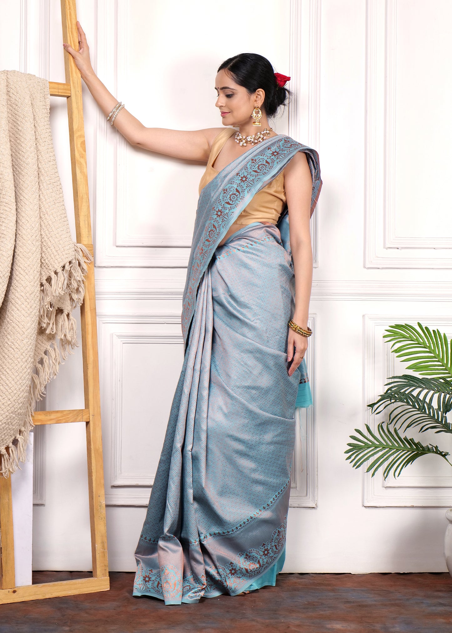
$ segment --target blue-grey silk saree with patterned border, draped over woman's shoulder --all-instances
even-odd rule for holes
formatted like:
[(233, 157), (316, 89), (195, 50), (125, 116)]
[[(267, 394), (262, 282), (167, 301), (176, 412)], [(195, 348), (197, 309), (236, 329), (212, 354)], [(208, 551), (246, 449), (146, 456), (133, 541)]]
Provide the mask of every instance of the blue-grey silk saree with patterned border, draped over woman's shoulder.
[(185, 356), (135, 551), (134, 596), (167, 605), (275, 584), (286, 544), (296, 406), (311, 403), (304, 361), (287, 374), (294, 269), (287, 209), (218, 246), (250, 199), (303, 151), (286, 135), (249, 149), (199, 196), (187, 270)]

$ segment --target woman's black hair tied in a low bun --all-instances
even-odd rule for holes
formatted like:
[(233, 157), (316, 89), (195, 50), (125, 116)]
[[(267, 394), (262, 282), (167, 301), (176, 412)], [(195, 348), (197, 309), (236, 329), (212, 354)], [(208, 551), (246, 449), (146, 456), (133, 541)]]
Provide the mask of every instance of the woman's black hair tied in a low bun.
[(273, 117), (280, 106), (285, 106), (291, 92), (277, 84), (270, 61), (256, 53), (240, 53), (223, 61), (217, 72), (225, 70), (236, 84), (242, 85), (249, 94), (258, 88), (265, 91), (262, 108), (267, 116)]

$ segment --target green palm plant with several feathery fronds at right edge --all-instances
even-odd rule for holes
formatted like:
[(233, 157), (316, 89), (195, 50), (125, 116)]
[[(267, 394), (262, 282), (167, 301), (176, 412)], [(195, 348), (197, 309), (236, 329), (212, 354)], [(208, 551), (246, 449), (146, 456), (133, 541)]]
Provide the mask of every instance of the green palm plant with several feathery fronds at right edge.
[(384, 338), (398, 358), (410, 363), (408, 369), (421, 377), (403, 374), (392, 376), (386, 391), (376, 402), (368, 404), (372, 413), (381, 413), (390, 407), (387, 422), (381, 422), (374, 433), (366, 424), (367, 435), (355, 429), (345, 451), (354, 468), (370, 462), (366, 472), (372, 477), (384, 465), (383, 477), (392, 472), (398, 477), (403, 468), (422, 455), (438, 455), (448, 462), (449, 453), (429, 443), (426, 446), (401, 432), (417, 429), (419, 432), (452, 433), (447, 415), (452, 410), (452, 341), (439, 330), (431, 331), (418, 323), (391, 325)]

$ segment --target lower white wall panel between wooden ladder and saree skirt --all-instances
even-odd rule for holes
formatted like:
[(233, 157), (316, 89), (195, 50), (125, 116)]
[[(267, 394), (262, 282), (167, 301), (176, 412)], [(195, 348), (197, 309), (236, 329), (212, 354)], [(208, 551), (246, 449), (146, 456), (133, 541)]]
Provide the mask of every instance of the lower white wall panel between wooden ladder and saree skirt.
[(182, 367), (180, 314), (99, 314), (106, 503), (147, 506)]

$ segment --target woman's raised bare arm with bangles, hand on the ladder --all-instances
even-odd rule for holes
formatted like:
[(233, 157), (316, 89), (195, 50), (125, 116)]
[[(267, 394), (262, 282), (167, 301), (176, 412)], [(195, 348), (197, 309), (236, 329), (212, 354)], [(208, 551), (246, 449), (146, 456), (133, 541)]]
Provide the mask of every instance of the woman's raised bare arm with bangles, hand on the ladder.
[[(92, 70), (89, 58), (89, 46), (86, 41), (84, 30), (77, 22), (78, 30), (78, 51), (75, 51), (69, 44), (63, 44), (66, 51), (72, 55), (75, 65), (82, 78), (89, 88), (92, 96), (96, 100), (99, 108), (105, 116), (108, 116), (118, 103), (118, 99), (113, 97), (111, 92), (104, 86), (94, 70)], [(207, 162), (211, 143), (220, 129), (207, 128), (206, 130), (168, 130), (160, 127), (145, 127), (129, 111), (122, 108), (113, 123), (116, 129), (132, 145), (144, 147), (153, 152), (175, 156), (175, 158), (185, 158), (186, 160)]]

